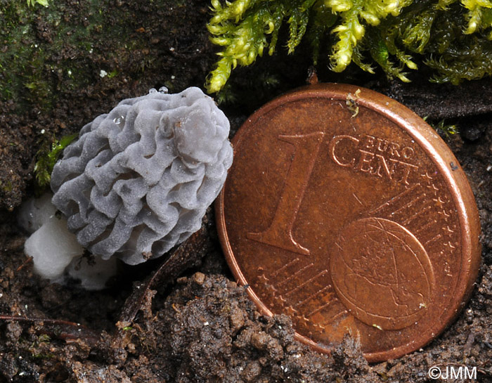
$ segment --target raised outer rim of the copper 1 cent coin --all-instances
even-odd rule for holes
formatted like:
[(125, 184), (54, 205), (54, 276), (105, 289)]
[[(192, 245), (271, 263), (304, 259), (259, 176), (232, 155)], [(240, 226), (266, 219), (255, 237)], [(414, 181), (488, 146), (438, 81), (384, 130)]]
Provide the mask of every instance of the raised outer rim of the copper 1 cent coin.
[[(413, 138), (415, 143), (417, 143), (417, 145), (419, 145), (430, 157), (432, 162), (434, 162), (453, 197), (453, 205), (458, 210), (462, 254), (469, 254), (467, 258), (462, 255), (460, 280), (458, 280), (455, 287), (455, 297), (460, 297), (460, 299), (453, 299), (451, 304), (447, 306), (444, 316), (441, 316), (439, 321), (436, 321), (434, 325), (427, 327), (426, 332), (422, 332), (412, 341), (387, 351), (364, 353), (365, 358), (369, 362), (378, 362), (399, 358), (406, 353), (420, 349), (420, 347), (425, 346), (425, 344), (431, 342), (432, 339), (444, 332), (446, 327), (448, 327), (448, 325), (455, 320), (460, 311), (462, 311), (468, 299), (470, 299), (474, 282), (477, 280), (481, 259), (479, 213), (470, 183), (468, 183), (465, 172), (460, 167), (460, 164), (453, 155), (453, 152), (451, 152), (451, 149), (448, 148), (448, 145), (444, 143), (441, 137), (436, 134), (429, 124), (416, 115), (415, 112), (406, 108), (406, 106), (396, 100), (361, 86), (330, 83), (315, 84), (294, 89), (293, 91), (285, 93), (284, 95), (271, 100), (269, 103), (266, 103), (266, 105), (254, 112), (244, 124), (242, 124), (231, 140), (231, 143), (233, 144), (234, 152), (236, 152), (239, 148), (242, 136), (244, 135), (243, 132), (247, 131), (249, 126), (254, 125), (260, 117), (280, 105), (286, 105), (295, 100), (306, 100), (308, 98), (329, 98), (331, 100), (342, 100), (343, 102), (346, 102), (349, 94), (351, 94), (351, 100), (354, 100), (356, 104), (373, 110), (398, 125)], [(451, 162), (453, 162), (454, 166), (458, 166), (458, 169), (451, 169)], [(216, 226), (221, 247), (224, 251), (228, 266), (231, 268), (238, 284), (247, 286), (247, 293), (262, 314), (273, 316), (272, 311), (266, 307), (257, 294), (254, 293), (252, 288), (248, 286), (247, 280), (242, 274), (242, 271), (240, 271), (238, 263), (235, 260), (233, 249), (228, 240), (224, 216), (224, 190), (226, 189), (227, 183), (228, 180), (226, 179), (224, 188), (221, 190), (221, 193), (215, 202)], [(331, 348), (329, 346), (313, 342), (313, 340), (304, 335), (300, 335), (298, 332), (295, 332), (294, 337), (300, 342), (313, 347), (316, 351), (330, 353)]]

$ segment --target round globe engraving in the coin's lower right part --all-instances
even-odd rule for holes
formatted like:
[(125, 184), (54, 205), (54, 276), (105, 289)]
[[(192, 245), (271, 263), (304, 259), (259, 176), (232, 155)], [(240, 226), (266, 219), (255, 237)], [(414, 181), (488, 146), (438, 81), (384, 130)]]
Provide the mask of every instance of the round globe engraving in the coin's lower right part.
[[(399, 223), (380, 218), (359, 219), (339, 233), (330, 275), (344, 306), (382, 330), (418, 320), (434, 289), (434, 271), (422, 244)], [(377, 299), (367, 299), (368, 292)]]

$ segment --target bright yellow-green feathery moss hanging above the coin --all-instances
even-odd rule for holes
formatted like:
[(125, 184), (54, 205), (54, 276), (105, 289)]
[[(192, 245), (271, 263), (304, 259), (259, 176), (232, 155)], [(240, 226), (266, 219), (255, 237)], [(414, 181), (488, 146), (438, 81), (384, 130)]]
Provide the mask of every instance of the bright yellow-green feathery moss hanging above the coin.
[(250, 65), (265, 49), (276, 49), (287, 23), (292, 53), (304, 35), (314, 62), (323, 37), (331, 45), (330, 67), (342, 72), (355, 63), (388, 77), (410, 81), (414, 57), (435, 70), (433, 81), (458, 84), (492, 74), (491, 0), (212, 0), (209, 32), (223, 47), (207, 89), (219, 91), (237, 65)]

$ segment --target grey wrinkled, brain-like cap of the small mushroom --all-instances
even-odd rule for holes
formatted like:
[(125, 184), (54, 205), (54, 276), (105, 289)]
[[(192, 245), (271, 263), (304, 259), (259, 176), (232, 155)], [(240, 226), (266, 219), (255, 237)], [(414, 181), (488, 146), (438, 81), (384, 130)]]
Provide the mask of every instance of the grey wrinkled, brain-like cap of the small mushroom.
[(198, 231), (226, 179), (229, 122), (198, 88), (120, 102), (67, 146), (53, 204), (77, 242), (127, 264), (160, 257)]

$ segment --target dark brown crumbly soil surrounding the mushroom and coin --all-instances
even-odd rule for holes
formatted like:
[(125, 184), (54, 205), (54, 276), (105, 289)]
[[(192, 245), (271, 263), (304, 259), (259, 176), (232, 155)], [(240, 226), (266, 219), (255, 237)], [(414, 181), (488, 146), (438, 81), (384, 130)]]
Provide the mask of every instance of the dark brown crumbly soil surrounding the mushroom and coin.
[[(181, 278), (145, 288), (133, 320), (122, 320), (122, 313), (159, 260), (123, 270), (103, 292), (50, 285), (32, 273), (15, 207), (34, 193), (37, 151), (123, 98), (164, 85), (171, 92), (202, 86), (215, 60), (208, 6), (208, 0), (52, 0), (48, 8), (27, 8), (24, 0), (0, 0), (0, 383), (432, 382), (427, 372), (434, 365), (477, 367), (477, 382), (492, 382), (490, 79), (442, 86), (419, 72), (413, 83), (400, 84), (318, 67), (322, 81), (370, 87), (422, 117), (460, 127), (460, 134), (443, 137), (477, 198), (479, 278), (458, 320), (399, 360), (368, 365), (351, 337), (330, 356), (299, 344), (289, 318), (261, 316), (233, 282), (213, 225), (204, 233), (207, 251), (189, 254)], [(300, 49), (288, 58), (280, 50), (233, 74), (229, 96), (236, 101), (224, 105), (233, 131), (254, 108), (304, 84), (310, 61)], [(264, 81), (272, 78), (278, 84)]]

